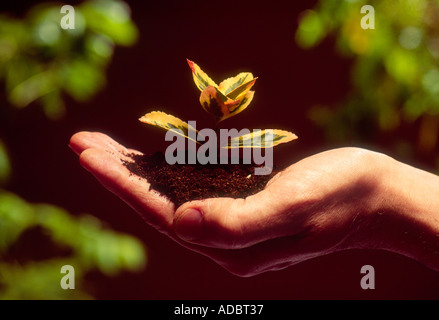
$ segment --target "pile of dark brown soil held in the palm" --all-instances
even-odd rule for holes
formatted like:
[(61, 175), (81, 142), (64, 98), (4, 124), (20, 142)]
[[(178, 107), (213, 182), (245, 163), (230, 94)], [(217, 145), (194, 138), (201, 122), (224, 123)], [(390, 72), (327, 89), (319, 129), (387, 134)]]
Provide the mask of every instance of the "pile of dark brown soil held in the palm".
[(125, 166), (145, 178), (151, 188), (167, 196), (176, 206), (204, 198), (246, 198), (262, 190), (269, 175), (255, 175), (251, 164), (174, 164), (161, 152), (152, 155), (131, 154), (133, 162)]

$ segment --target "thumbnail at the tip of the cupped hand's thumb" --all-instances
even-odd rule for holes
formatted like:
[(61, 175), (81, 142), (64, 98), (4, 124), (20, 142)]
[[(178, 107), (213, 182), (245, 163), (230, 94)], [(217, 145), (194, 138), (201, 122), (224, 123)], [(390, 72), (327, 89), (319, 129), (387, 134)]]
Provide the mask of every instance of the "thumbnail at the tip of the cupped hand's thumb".
[(186, 209), (175, 223), (177, 235), (186, 241), (193, 241), (201, 236), (203, 216), (197, 209)]

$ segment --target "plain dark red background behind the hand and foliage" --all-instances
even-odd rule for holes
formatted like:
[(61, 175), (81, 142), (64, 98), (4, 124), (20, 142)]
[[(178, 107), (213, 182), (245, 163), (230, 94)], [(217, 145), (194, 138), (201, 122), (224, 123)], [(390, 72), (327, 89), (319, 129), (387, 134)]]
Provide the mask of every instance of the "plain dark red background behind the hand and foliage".
[[(34, 2), (2, 4), (24, 12)], [(386, 252), (352, 251), (301, 263), (283, 271), (239, 278), (209, 259), (159, 234), (85, 170), (69, 150), (72, 134), (102, 131), (142, 151), (163, 148), (164, 133), (138, 117), (170, 112), (197, 126), (211, 126), (199, 103), (185, 59), (215, 80), (240, 71), (259, 77), (251, 108), (228, 127), (279, 128), (299, 140), (276, 150), (275, 161), (292, 162), (331, 148), (307, 118), (314, 104), (340, 101), (349, 90), (350, 61), (334, 53), (333, 41), (301, 50), (294, 34), (299, 14), (314, 1), (128, 1), (140, 30), (135, 47), (120, 48), (108, 85), (92, 101), (67, 100), (67, 116), (47, 121), (39, 107), (11, 111), (2, 121), (14, 165), (8, 189), (31, 202), (48, 202), (74, 214), (92, 213), (148, 248), (140, 274), (89, 277), (98, 298), (113, 299), (400, 299), (439, 298), (439, 274)], [(385, 146), (371, 148), (384, 150)], [(384, 148), (384, 149), (383, 149)], [(360, 269), (375, 268), (376, 289), (362, 290)]]

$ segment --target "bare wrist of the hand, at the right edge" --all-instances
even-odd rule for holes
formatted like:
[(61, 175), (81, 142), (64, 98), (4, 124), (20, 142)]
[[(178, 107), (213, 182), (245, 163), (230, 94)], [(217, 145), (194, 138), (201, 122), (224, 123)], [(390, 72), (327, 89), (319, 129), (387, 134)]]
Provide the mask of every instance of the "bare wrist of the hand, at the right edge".
[(360, 246), (399, 253), (439, 270), (439, 177), (384, 155), (377, 160), (376, 193)]

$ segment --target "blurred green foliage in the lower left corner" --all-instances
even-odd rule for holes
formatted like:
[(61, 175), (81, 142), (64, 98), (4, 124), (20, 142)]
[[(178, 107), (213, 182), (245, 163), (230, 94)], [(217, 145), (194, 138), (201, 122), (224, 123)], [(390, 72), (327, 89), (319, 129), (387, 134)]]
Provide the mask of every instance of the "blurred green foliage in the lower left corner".
[[(50, 254), (33, 244), (34, 251), (42, 251), (45, 259), (21, 261), (23, 255), (12, 253), (11, 248), (20, 247), (24, 241), (21, 236), (32, 229), (38, 230), (41, 239), (49, 238), (55, 250), (52, 248)], [(36, 234), (32, 241), (38, 240)], [(47, 245), (47, 241), (41, 242)], [(27, 256), (32, 256), (27, 249)], [(0, 190), (0, 299), (91, 298), (81, 282), (87, 271), (96, 269), (112, 276), (121, 270), (141, 270), (145, 263), (145, 249), (139, 240), (104, 228), (97, 218), (74, 218), (56, 206), (30, 204)], [(75, 290), (60, 286), (63, 265), (75, 269)]]

